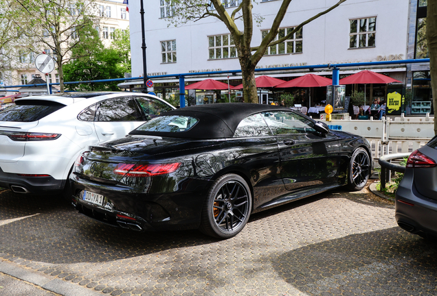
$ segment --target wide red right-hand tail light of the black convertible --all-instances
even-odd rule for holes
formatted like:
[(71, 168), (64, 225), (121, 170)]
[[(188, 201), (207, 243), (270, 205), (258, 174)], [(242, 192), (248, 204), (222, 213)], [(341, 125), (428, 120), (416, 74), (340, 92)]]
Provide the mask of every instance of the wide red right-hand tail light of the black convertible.
[(173, 173), (181, 164), (117, 164), (114, 173), (126, 177), (151, 177)]

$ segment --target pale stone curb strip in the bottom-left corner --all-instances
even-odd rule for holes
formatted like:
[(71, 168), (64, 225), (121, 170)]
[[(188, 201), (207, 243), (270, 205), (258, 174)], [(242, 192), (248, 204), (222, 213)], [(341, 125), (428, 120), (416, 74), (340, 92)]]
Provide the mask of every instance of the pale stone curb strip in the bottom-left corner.
[(89, 288), (65, 282), (57, 277), (41, 275), (41, 273), (23, 269), (16, 264), (5, 262), (5, 260), (0, 261), (0, 272), (63, 296), (102, 296), (102, 293), (92, 291)]

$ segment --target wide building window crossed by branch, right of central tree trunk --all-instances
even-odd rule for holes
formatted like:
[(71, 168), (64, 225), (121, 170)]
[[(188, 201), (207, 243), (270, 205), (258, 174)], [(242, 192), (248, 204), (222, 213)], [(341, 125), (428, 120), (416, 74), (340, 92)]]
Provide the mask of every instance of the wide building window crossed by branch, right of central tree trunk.
[[(287, 27), (279, 29), (278, 35), (275, 36), (273, 40), (278, 40), (280, 38), (284, 38), (289, 34), (289, 32), (293, 31), (295, 27)], [(262, 38), (264, 39), (267, 34), (269, 34), (269, 30), (264, 30), (261, 32)], [(293, 36), (291, 36), (289, 39), (285, 40), (284, 42), (280, 42), (277, 45), (272, 45), (269, 48), (267, 48), (265, 55), (277, 55), (277, 54), (283, 54), (283, 53), (302, 53), (302, 42), (303, 42), (303, 36), (302, 36), (302, 28), (298, 30), (298, 32), (293, 33)]]

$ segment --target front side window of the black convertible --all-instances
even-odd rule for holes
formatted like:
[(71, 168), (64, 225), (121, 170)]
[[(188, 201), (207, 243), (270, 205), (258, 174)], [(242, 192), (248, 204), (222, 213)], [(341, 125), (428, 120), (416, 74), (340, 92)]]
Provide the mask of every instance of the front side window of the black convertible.
[(293, 112), (265, 112), (264, 119), (274, 135), (315, 132), (313, 121)]

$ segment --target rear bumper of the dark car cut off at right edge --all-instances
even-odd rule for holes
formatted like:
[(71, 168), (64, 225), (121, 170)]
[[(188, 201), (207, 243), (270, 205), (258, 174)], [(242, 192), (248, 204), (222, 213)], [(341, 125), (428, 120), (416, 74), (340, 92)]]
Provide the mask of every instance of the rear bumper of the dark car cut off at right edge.
[(412, 170), (407, 170), (396, 190), (396, 223), (414, 234), (437, 236), (437, 200), (418, 193)]

